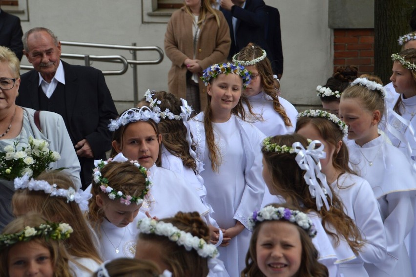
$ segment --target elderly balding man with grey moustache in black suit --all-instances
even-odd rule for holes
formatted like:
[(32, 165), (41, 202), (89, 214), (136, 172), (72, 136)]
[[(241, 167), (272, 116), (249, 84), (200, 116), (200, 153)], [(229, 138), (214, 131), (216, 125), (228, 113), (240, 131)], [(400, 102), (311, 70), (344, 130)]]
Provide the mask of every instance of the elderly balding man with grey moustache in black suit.
[(37, 27), (23, 36), (24, 55), (33, 70), (21, 75), (16, 104), (62, 115), (81, 164), (83, 187), (91, 182), (94, 159), (111, 148), (110, 119), (118, 116), (103, 73), (63, 62), (54, 33)]

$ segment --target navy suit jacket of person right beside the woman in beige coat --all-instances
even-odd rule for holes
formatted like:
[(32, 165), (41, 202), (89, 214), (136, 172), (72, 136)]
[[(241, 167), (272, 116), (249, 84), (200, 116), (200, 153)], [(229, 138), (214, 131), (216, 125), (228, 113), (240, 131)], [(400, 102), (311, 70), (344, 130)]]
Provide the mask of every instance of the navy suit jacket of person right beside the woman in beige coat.
[[(263, 48), (267, 56), (269, 55), (269, 46), (265, 39), (265, 26), (267, 24), (266, 4), (263, 0), (246, 0), (246, 6), (243, 8), (234, 5), (231, 11), (221, 8), (228, 25), (231, 36), (231, 47), (229, 50), (229, 60), (249, 43), (255, 43)], [(237, 18), (236, 34), (232, 27), (232, 17)], [(271, 54), (271, 53), (270, 53)], [(269, 59), (270, 59), (269, 58)]]

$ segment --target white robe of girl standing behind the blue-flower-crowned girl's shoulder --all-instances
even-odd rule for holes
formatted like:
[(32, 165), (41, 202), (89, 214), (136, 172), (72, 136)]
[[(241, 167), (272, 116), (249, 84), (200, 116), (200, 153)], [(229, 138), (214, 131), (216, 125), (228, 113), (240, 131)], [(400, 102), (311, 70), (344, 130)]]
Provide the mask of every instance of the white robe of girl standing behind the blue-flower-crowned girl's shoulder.
[(266, 136), (284, 135), (294, 132), (298, 112), (289, 101), (279, 96), (280, 105), (285, 109), (292, 126), (285, 125), (282, 116), (274, 110), (271, 97), (263, 91), (247, 98), (250, 102), (251, 110), (256, 116), (250, 114), (246, 103), (243, 102), (246, 110), (246, 119), (248, 122), (252, 122)]

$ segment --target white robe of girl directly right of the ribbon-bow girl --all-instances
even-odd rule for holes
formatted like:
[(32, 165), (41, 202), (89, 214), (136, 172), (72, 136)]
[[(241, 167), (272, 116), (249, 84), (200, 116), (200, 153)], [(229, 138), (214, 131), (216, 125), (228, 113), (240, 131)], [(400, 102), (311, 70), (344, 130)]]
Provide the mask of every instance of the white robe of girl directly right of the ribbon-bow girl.
[(342, 200), (345, 212), (354, 220), (365, 241), (358, 258), (340, 264), (340, 271), (344, 276), (366, 276), (364, 263), (383, 262), (387, 255), (386, 233), (377, 199), (370, 184), (355, 174), (340, 175), (331, 187)]

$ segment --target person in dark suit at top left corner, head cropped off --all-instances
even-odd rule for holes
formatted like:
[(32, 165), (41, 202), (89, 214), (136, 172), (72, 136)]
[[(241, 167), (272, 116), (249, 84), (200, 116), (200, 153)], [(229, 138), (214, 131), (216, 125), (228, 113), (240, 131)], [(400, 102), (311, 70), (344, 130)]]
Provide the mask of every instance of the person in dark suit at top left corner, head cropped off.
[(23, 56), (22, 35), (20, 19), (0, 9), (0, 45), (10, 48), (20, 61)]

